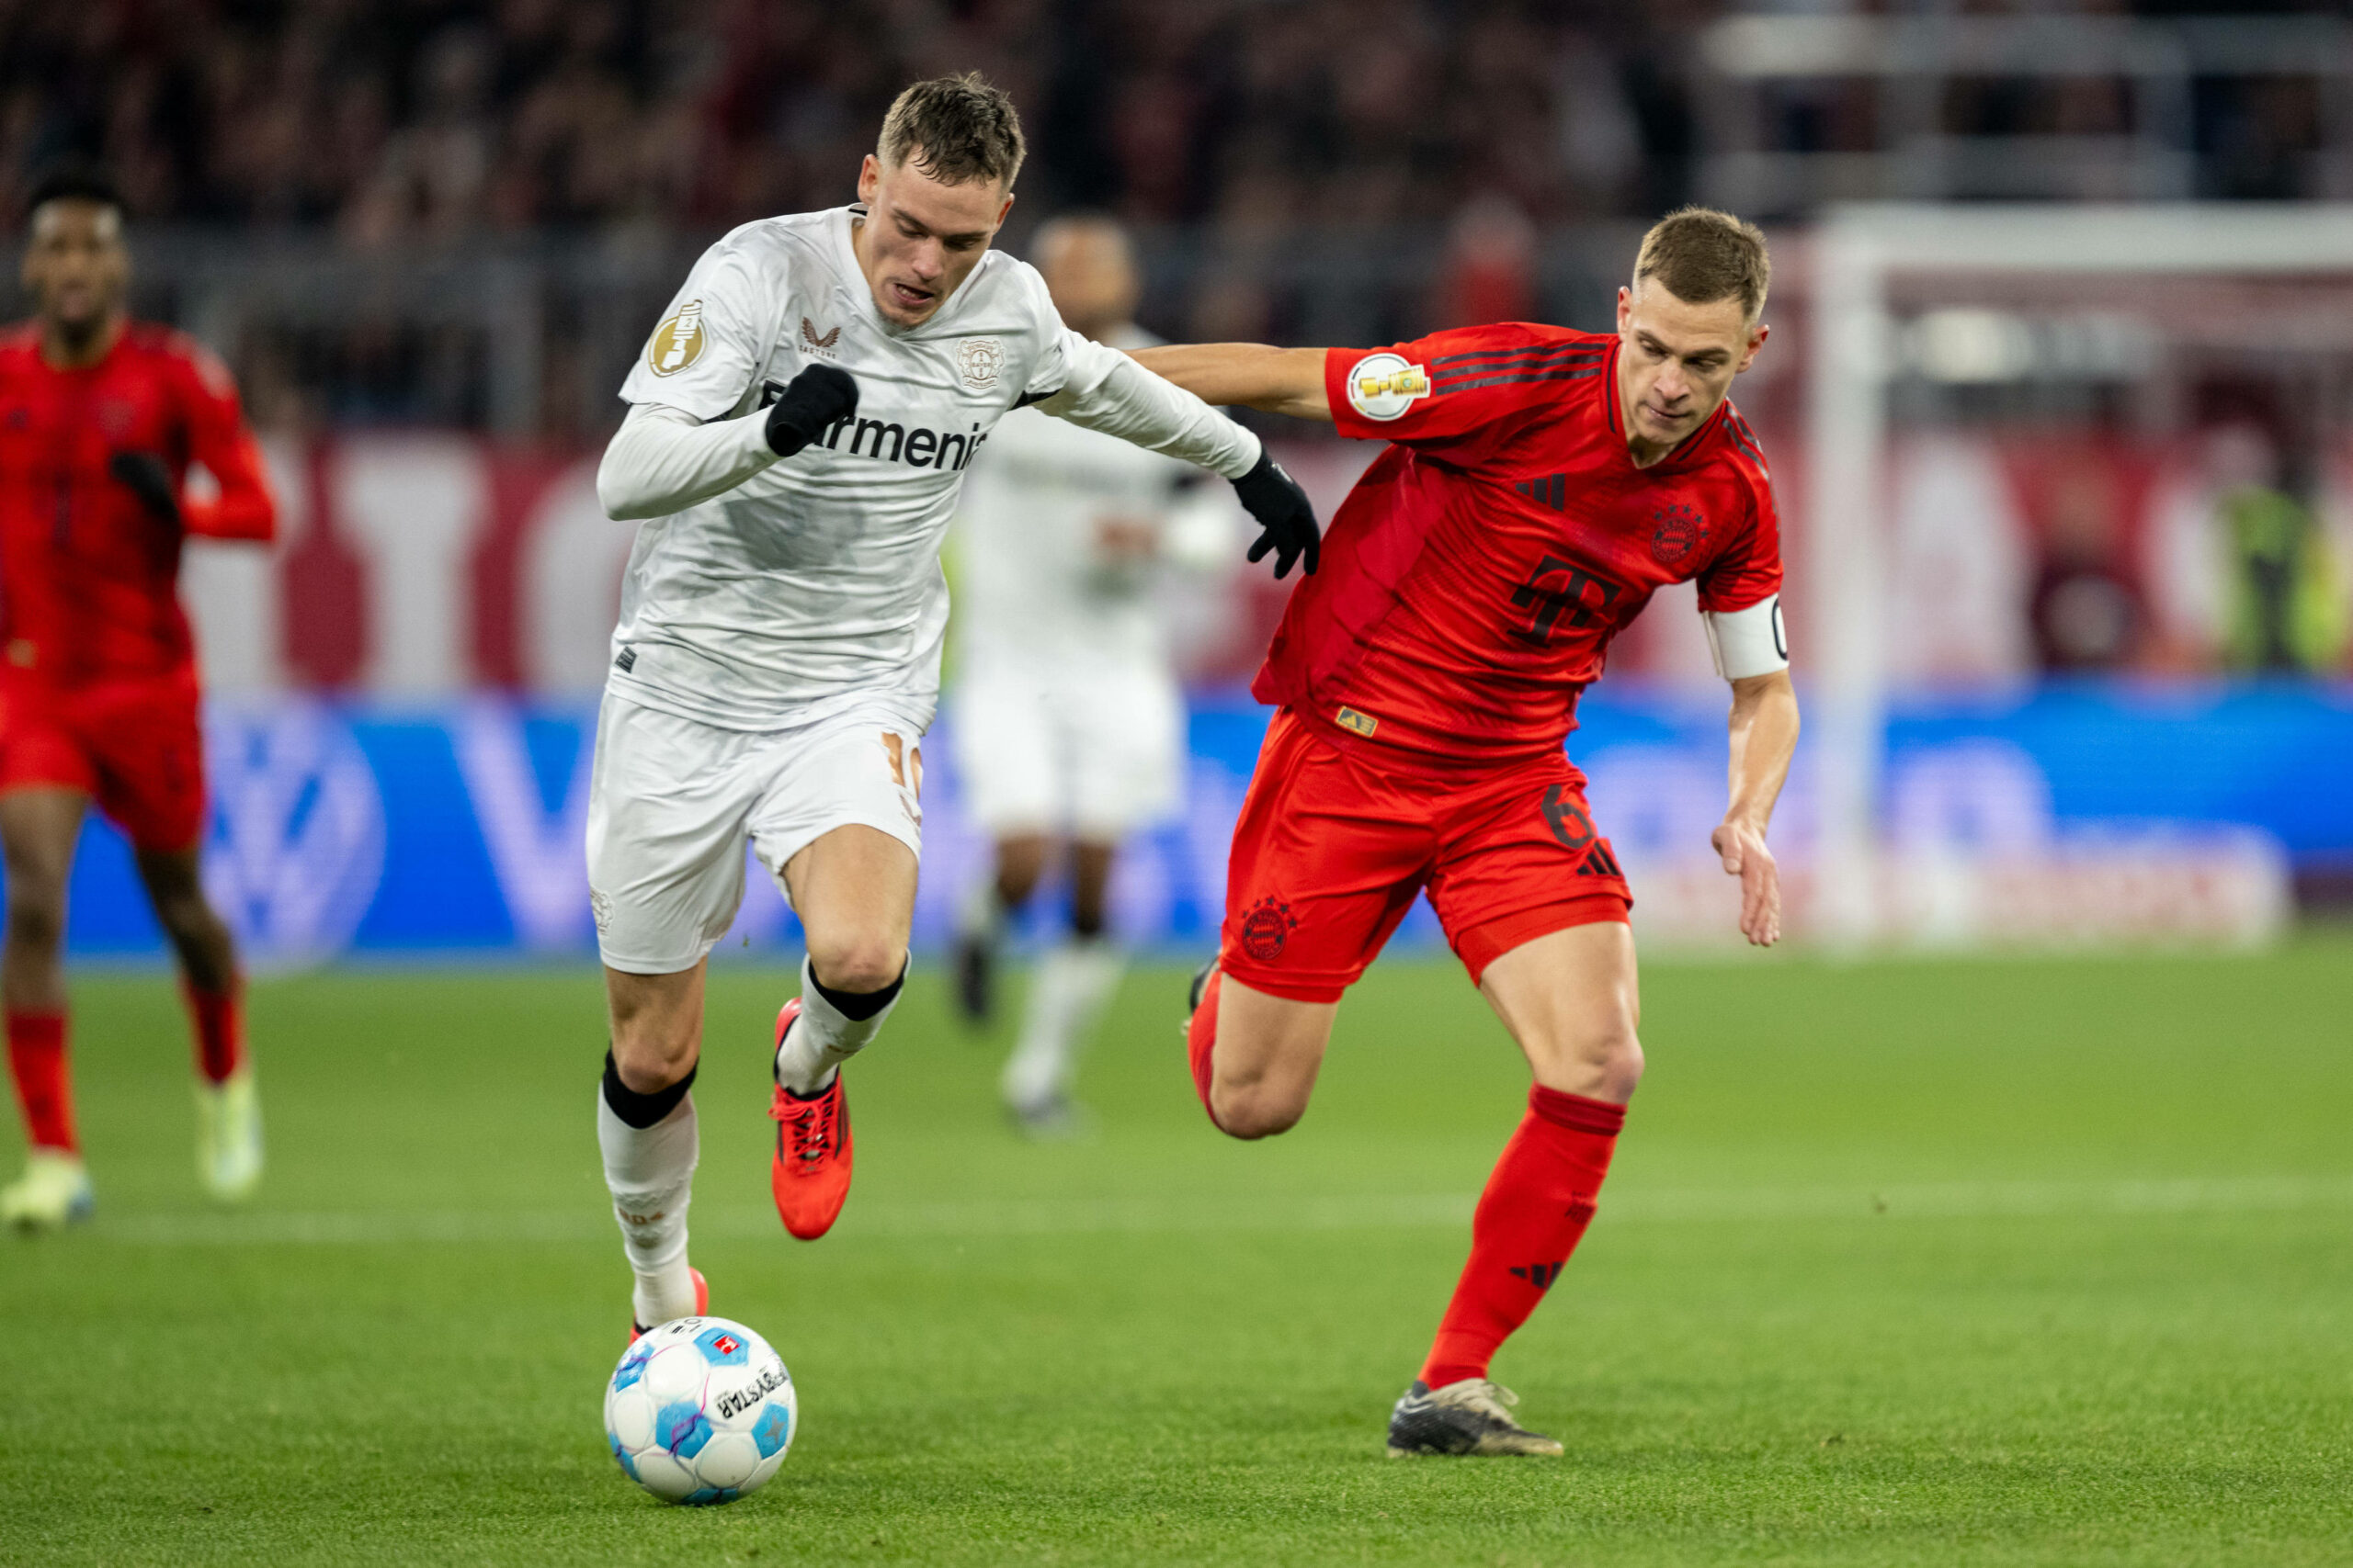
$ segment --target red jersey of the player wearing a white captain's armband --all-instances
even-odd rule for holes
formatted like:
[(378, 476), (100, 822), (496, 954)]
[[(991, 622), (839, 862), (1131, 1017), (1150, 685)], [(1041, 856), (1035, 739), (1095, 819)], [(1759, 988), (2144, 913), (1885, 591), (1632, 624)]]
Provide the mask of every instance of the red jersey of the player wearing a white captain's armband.
[(1334, 348), (1341, 435), (1393, 442), (1348, 491), (1252, 691), (1344, 745), (1438, 764), (1558, 750), (1649, 595), (1781, 588), (1765, 454), (1725, 402), (1635, 468), (1617, 336), (1513, 322)]

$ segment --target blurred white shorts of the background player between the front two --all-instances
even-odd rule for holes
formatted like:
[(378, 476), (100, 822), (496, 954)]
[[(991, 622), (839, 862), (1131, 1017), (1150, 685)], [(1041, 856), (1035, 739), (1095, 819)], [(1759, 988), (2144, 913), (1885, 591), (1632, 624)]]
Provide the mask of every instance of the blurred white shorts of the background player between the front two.
[(1113, 842), (1184, 799), (1184, 696), (1162, 670), (979, 665), (958, 689), (955, 762), (991, 837)]

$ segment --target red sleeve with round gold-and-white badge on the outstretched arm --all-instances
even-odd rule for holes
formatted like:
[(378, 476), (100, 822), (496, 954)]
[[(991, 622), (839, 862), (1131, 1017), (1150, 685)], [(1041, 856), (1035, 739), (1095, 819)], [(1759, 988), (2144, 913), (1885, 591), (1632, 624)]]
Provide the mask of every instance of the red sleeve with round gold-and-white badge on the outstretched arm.
[(1607, 353), (1605, 336), (1532, 322), (1433, 331), (1327, 350), (1325, 397), (1341, 435), (1475, 463), (1532, 414), (1558, 407), (1565, 381), (1602, 374)]

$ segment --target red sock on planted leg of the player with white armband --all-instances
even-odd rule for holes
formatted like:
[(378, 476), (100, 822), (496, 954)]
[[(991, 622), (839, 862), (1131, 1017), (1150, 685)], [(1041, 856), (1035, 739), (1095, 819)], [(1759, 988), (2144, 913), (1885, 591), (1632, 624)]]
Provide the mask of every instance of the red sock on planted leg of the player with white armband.
[(1487, 1375), (1497, 1347), (1537, 1309), (1586, 1234), (1624, 1124), (1624, 1105), (1529, 1088), (1520, 1131), (1471, 1215), (1471, 1262), (1421, 1366), (1426, 1385)]

